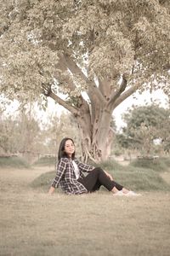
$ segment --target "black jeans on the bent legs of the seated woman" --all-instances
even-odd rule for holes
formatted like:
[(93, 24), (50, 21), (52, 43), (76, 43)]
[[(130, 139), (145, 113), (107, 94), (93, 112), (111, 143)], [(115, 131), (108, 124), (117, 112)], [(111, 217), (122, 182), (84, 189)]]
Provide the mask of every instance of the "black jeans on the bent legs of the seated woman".
[(82, 183), (88, 192), (99, 190), (100, 186), (102, 185), (109, 191), (111, 191), (114, 187), (116, 187), (118, 190), (122, 190), (123, 188), (122, 185), (111, 180), (110, 177), (107, 177), (105, 172), (100, 167), (94, 168), (94, 170), (89, 172), (86, 177), (79, 178), (77, 181)]

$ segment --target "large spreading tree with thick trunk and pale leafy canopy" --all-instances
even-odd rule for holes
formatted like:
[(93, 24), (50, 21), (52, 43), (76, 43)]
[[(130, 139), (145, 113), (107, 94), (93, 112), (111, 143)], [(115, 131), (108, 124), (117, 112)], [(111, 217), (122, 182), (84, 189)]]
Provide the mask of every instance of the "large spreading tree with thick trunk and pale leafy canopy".
[(3, 94), (69, 110), (85, 157), (108, 156), (111, 115), (133, 92), (167, 92), (169, 0), (1, 0), (0, 19)]

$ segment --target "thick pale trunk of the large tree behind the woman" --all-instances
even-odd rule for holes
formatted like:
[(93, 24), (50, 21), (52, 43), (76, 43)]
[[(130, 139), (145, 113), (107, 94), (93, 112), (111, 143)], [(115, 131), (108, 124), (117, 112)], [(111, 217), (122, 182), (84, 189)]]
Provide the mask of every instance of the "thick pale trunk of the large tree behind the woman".
[(80, 108), (80, 114), (75, 116), (81, 134), (82, 160), (99, 162), (108, 159), (114, 135), (110, 127), (111, 113), (101, 108), (94, 124), (89, 108)]

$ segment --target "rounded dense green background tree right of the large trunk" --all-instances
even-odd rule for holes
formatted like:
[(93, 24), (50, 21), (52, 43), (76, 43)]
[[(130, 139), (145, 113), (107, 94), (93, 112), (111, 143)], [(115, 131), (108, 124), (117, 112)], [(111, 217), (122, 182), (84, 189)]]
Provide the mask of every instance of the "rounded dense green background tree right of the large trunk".
[(126, 127), (117, 139), (124, 148), (138, 148), (143, 154), (150, 154), (154, 140), (158, 139), (160, 146), (170, 141), (170, 110), (157, 104), (150, 106), (133, 106), (124, 114)]

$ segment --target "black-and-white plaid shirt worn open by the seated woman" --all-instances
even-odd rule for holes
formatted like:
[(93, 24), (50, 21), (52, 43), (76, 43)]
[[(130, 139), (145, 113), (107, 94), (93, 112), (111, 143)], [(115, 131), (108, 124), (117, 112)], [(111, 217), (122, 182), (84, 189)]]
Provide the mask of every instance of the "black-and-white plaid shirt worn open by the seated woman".
[[(94, 169), (94, 166), (88, 166), (86, 164), (83, 164), (77, 159), (75, 159), (74, 161), (76, 162), (80, 171), (80, 178), (84, 177), (83, 172), (90, 172)], [(82, 183), (79, 183), (77, 181), (72, 160), (69, 160), (68, 158), (61, 158), (56, 169), (57, 173), (56, 177), (54, 177), (52, 187), (58, 188), (60, 184), (61, 189), (63, 189), (66, 194), (73, 195), (88, 192), (88, 190), (82, 185)]]

